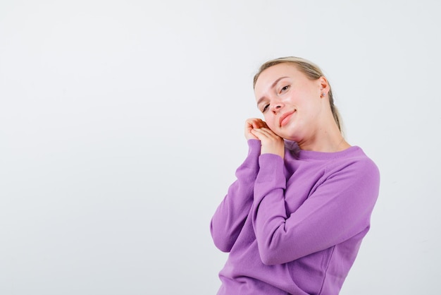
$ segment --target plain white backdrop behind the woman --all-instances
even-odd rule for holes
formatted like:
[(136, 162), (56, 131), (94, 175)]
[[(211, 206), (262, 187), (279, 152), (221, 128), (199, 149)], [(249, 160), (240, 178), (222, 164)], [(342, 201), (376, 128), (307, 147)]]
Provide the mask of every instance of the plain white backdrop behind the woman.
[(341, 294), (437, 294), (439, 1), (0, 2), (0, 294), (216, 294), (209, 222), (302, 56), (380, 168)]

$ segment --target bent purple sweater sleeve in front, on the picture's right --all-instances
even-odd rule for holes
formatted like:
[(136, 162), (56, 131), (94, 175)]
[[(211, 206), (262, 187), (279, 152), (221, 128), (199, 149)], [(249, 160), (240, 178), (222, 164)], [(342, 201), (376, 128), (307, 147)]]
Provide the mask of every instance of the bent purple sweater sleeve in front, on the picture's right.
[(288, 263), (367, 232), (380, 181), (370, 159), (329, 173), (291, 213), (285, 207), (282, 157), (264, 154), (259, 164), (252, 222), (263, 263)]

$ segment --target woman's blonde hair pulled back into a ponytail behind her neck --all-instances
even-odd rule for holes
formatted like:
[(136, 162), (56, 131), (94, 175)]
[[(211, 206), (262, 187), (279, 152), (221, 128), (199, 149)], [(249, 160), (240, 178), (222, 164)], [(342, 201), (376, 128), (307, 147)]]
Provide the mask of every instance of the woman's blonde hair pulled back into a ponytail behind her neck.
[[(280, 57), (278, 59), (271, 59), (270, 61), (266, 61), (264, 64), (260, 66), (259, 71), (257, 71), (256, 75), (254, 75), (253, 88), (256, 87), (256, 81), (259, 78), (260, 74), (263, 71), (265, 71), (267, 68), (270, 68), (271, 66), (275, 66), (276, 64), (293, 64), (294, 66), (296, 66), (296, 68), (299, 71), (304, 73), (305, 76), (310, 78), (311, 80), (316, 80), (322, 76), (325, 76), (323, 75), (321, 68), (319, 68), (316, 64), (313, 64), (313, 62), (311, 61), (296, 56)], [(333, 91), (331, 90), (330, 85), (329, 85), (328, 96), (329, 96), (329, 104), (330, 104), (331, 112), (333, 112), (335, 123), (337, 124), (338, 129), (341, 132), (342, 131), (342, 128), (340, 126), (341, 118), (337, 110), (337, 107), (335, 107), (334, 105)]]

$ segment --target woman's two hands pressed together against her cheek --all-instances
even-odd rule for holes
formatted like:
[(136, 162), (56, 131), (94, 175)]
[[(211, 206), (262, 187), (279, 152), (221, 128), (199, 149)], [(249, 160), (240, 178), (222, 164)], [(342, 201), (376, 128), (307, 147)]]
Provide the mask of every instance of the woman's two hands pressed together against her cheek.
[(283, 138), (275, 134), (261, 119), (248, 119), (245, 124), (245, 137), (261, 141), (261, 154), (285, 156)]

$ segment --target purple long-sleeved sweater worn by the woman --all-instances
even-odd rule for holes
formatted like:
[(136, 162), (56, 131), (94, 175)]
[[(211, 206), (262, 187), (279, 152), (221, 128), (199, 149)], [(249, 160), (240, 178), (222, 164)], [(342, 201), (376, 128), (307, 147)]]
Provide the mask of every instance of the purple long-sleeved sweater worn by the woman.
[(378, 168), (359, 147), (260, 155), (260, 141), (211, 219), (230, 252), (218, 295), (338, 294), (378, 198)]

